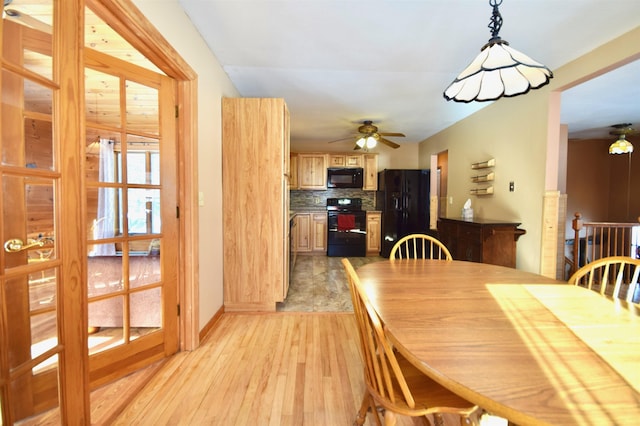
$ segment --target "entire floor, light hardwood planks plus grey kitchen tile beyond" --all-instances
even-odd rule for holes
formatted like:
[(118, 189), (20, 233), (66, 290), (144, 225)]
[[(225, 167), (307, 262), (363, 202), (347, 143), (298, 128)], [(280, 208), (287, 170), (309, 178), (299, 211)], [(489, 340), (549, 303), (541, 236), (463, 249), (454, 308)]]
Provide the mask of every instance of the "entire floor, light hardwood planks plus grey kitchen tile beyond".
[[(293, 302), (281, 312), (226, 313), (198, 349), (94, 391), (92, 424), (351, 425), (364, 381), (344, 270), (339, 258), (301, 257)], [(459, 425), (456, 417), (446, 422)], [(53, 410), (23, 424), (60, 421)], [(375, 424), (369, 414), (365, 425)]]

